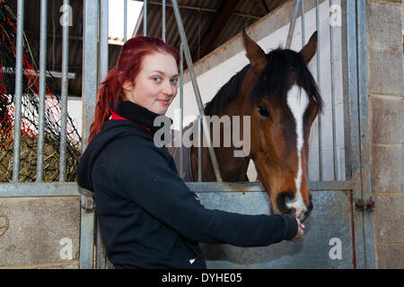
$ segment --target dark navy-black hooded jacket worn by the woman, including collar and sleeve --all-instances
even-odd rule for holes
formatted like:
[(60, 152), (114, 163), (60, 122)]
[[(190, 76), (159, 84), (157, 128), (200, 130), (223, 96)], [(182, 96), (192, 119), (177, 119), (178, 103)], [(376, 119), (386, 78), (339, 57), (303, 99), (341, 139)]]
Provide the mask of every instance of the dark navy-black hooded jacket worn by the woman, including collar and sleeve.
[[(95, 210), (116, 268), (206, 268), (198, 242), (259, 247), (293, 239), (291, 215), (206, 209), (178, 175), (165, 147), (154, 145), (159, 116), (130, 101), (95, 135), (77, 168), (95, 192)], [(191, 260), (196, 258), (196, 260)]]

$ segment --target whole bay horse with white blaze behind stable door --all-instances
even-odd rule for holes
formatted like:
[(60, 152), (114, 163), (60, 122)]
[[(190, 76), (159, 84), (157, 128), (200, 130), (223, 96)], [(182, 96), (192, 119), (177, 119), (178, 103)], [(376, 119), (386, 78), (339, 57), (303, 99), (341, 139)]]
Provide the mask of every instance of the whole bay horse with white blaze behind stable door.
[[(250, 153), (234, 157), (233, 145), (215, 147), (219, 170), (224, 181), (249, 181), (252, 160), (271, 198), (271, 211), (304, 221), (312, 211), (306, 167), (309, 135), (323, 106), (307, 68), (316, 53), (317, 32), (298, 53), (277, 48), (266, 54), (245, 30), (242, 39), (250, 64), (233, 75), (204, 110), (206, 116), (250, 116)], [(220, 129), (223, 138), (224, 125)], [(190, 148), (190, 166), (192, 178), (198, 178), (198, 147)], [(202, 181), (216, 181), (207, 147), (202, 147)]]

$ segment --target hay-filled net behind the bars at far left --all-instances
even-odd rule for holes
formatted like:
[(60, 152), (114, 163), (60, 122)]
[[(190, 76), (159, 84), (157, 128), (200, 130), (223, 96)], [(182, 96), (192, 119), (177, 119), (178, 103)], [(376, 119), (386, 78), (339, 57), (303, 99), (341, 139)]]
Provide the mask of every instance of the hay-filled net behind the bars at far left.
[[(14, 90), (16, 58), (16, 17), (8, 4), (0, 0), (0, 182), (12, 181), (14, 138)], [(40, 73), (35, 63), (38, 49), (23, 35), (22, 56), (22, 124), (20, 181), (36, 180)], [(59, 178), (61, 99), (53, 93), (57, 80), (47, 72), (43, 180)], [(67, 115), (66, 181), (75, 181), (75, 168), (81, 155), (81, 138), (73, 120)]]

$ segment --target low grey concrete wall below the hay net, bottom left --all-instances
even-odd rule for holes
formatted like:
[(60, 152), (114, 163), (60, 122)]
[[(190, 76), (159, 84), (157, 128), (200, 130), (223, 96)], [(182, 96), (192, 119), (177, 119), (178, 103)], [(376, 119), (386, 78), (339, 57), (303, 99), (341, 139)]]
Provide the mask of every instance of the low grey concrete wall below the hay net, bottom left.
[(80, 197), (2, 197), (0, 214), (0, 269), (78, 268)]

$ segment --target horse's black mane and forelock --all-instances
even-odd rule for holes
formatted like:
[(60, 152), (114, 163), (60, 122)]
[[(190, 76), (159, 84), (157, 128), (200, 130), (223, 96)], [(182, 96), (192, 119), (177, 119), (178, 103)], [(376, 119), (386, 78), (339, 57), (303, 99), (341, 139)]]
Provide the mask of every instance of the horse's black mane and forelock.
[[(320, 112), (323, 107), (323, 101), (312, 74), (303, 57), (292, 50), (277, 48), (267, 54), (268, 65), (264, 67), (259, 79), (252, 87), (250, 93), (250, 104), (258, 104), (264, 96), (277, 96), (274, 100), (285, 100), (287, 91), (290, 88), (291, 71), (296, 74), (296, 82), (303, 87), (312, 100), (317, 102)], [(217, 91), (215, 97), (206, 104), (206, 116), (218, 115), (224, 107), (236, 96), (242, 79), (247, 73), (250, 65), (246, 65), (240, 72), (233, 77)]]

